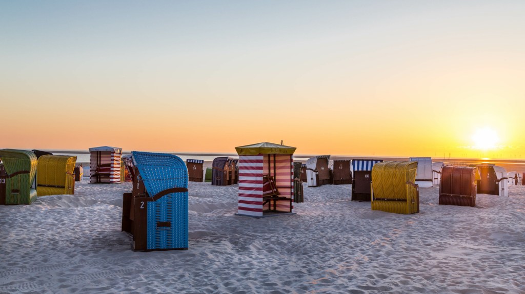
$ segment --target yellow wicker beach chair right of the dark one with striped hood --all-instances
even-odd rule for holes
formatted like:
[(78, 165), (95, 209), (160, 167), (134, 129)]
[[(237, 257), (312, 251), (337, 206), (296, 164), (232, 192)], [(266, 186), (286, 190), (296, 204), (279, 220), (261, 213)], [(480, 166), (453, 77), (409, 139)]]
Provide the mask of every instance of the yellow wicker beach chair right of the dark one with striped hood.
[(411, 214), (419, 212), (417, 161), (380, 162), (372, 168), (372, 210)]

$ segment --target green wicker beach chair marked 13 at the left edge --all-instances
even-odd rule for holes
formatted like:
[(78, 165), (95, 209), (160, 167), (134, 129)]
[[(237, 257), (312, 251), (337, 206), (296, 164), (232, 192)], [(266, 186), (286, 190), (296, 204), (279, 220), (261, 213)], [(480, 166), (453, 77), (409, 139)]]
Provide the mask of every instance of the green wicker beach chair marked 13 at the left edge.
[(25, 171), (6, 180), (5, 204), (31, 204), (36, 200), (36, 190), (31, 188), (35, 180), (37, 158), (27, 150), (2, 149), (0, 158), (4, 162), (7, 174)]

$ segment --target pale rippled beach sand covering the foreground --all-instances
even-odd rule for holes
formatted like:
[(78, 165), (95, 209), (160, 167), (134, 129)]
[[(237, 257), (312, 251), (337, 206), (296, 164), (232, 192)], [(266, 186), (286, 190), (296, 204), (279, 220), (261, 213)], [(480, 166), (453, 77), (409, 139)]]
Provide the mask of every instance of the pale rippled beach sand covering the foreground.
[(133, 252), (120, 231), (130, 183), (0, 206), (0, 292), (524, 293), (525, 186), (475, 208), (371, 211), (350, 185), (304, 188), (297, 215), (235, 216), (237, 186), (190, 182), (187, 251)]

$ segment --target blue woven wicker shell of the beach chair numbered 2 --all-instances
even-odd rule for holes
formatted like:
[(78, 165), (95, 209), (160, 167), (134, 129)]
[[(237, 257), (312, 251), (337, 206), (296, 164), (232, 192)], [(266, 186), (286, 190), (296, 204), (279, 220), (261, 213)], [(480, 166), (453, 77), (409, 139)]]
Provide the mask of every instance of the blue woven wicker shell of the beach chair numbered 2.
[[(188, 171), (181, 158), (171, 154), (133, 151), (133, 162), (150, 197), (169, 188), (187, 188)], [(158, 227), (171, 222), (171, 227)], [(164, 195), (148, 204), (147, 248), (183, 249), (188, 247), (188, 193)]]

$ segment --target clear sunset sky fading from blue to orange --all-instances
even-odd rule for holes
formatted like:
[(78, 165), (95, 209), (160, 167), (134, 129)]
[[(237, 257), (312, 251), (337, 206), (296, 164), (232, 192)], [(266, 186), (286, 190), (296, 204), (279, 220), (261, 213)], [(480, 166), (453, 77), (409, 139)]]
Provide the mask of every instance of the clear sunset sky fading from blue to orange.
[(525, 1), (0, 0), (0, 148), (283, 140), (525, 159), (524, 14)]

